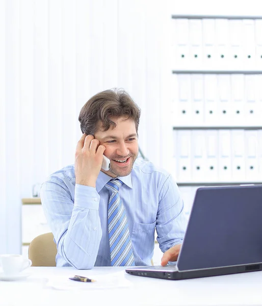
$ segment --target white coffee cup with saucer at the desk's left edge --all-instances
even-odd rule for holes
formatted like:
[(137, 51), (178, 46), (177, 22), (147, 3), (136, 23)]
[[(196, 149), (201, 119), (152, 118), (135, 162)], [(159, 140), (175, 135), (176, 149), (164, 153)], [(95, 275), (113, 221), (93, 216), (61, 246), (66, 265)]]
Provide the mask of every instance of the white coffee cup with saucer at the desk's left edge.
[(19, 254), (4, 254), (0, 255), (0, 264), (6, 276), (14, 276), (29, 268), (32, 261)]

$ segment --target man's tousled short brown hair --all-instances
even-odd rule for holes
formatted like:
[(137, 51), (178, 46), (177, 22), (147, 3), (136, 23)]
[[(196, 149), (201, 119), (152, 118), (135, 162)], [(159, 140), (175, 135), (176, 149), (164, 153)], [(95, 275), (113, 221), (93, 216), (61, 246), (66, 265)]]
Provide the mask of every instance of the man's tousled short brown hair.
[(82, 107), (78, 120), (82, 133), (94, 135), (98, 123), (101, 122), (104, 131), (109, 130), (110, 126), (116, 127), (112, 117), (127, 116), (135, 121), (136, 131), (140, 118), (140, 108), (134, 100), (123, 89), (104, 90), (93, 97)]

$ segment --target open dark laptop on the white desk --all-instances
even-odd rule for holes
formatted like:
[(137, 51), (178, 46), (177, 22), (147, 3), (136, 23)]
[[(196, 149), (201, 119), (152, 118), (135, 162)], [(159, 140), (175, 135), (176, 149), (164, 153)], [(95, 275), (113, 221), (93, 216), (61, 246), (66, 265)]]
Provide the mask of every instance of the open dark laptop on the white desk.
[(176, 265), (130, 267), (128, 274), (188, 279), (262, 269), (262, 185), (196, 191)]

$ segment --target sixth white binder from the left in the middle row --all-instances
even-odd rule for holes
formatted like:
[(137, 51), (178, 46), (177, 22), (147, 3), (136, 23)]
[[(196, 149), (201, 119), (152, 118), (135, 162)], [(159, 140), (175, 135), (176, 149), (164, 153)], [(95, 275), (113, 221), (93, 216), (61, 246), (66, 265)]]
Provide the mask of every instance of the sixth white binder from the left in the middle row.
[(259, 87), (262, 86), (262, 83), (257, 83), (257, 80), (262, 81), (259, 75), (245, 75), (245, 122), (248, 125), (260, 125), (259, 96), (258, 99), (256, 99), (256, 90), (258, 90), (257, 93), (259, 93)]

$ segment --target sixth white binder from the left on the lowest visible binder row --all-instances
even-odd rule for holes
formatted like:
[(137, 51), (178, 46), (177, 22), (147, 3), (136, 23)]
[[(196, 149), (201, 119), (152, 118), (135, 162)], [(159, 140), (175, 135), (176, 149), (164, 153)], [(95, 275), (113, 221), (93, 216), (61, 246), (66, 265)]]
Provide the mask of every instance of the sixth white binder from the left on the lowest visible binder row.
[(245, 153), (246, 180), (249, 182), (258, 181), (259, 172), (257, 130), (245, 131)]

